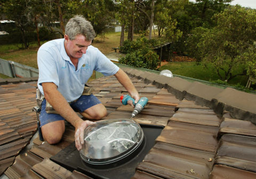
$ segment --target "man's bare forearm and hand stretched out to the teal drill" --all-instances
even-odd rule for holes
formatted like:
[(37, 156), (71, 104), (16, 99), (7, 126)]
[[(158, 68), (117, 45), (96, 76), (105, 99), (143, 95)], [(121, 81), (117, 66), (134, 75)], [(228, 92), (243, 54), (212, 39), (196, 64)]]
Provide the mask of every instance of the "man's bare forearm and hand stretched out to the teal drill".
[(130, 93), (131, 97), (135, 99), (135, 103), (138, 103), (140, 100), (140, 95), (132, 84), (129, 76), (122, 69), (119, 69), (118, 72), (114, 75), (116, 76), (117, 80), (124, 86), (124, 88)]

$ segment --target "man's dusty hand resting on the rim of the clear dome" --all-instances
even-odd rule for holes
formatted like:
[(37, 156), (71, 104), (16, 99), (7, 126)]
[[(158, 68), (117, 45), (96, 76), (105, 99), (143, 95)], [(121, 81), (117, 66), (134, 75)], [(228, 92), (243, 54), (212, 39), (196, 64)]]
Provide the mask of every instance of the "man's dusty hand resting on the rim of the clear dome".
[(75, 143), (77, 150), (81, 150), (84, 144), (84, 130), (87, 126), (93, 125), (94, 122), (91, 121), (83, 121), (79, 123), (75, 130)]

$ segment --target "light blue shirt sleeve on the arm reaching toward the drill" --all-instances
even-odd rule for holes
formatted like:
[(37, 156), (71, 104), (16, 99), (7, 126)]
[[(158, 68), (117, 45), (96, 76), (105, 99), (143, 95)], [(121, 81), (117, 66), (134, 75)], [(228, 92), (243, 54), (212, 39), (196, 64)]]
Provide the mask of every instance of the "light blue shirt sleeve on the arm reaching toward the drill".
[(95, 71), (101, 72), (105, 76), (114, 75), (118, 72), (119, 67), (110, 61), (104, 54), (97, 49), (97, 64)]

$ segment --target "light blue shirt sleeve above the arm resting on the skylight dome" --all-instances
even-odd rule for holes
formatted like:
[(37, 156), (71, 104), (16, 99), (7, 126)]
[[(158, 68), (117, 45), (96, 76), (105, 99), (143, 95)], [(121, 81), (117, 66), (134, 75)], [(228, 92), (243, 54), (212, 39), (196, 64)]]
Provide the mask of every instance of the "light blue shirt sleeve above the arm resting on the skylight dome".
[[(54, 53), (47, 50), (39, 49), (37, 52), (37, 65), (39, 70), (38, 84), (42, 86), (44, 82), (53, 82), (59, 86), (59, 76), (56, 64), (58, 56), (53, 56)], [(41, 91), (43, 92), (43, 91)]]

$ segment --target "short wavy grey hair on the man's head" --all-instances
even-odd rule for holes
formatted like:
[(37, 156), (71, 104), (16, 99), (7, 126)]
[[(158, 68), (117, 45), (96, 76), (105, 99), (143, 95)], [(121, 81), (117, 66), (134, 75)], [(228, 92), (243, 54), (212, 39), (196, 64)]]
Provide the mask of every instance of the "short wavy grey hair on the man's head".
[(76, 35), (79, 34), (83, 35), (86, 41), (91, 41), (95, 37), (91, 22), (87, 21), (82, 15), (75, 15), (74, 18), (68, 21), (65, 33), (70, 40), (74, 40)]

